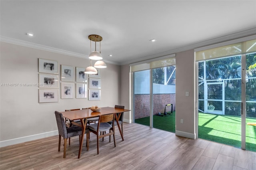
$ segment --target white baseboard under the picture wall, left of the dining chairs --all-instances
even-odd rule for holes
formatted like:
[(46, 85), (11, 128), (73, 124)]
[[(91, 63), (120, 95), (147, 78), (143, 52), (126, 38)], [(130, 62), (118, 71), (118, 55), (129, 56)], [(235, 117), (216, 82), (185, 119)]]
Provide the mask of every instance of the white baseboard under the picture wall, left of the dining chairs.
[(0, 141), (0, 147), (10, 146), (10, 145), (13, 145), (13, 144), (28, 142), (28, 141), (31, 141), (31, 140), (36, 140), (36, 139), (41, 139), (41, 138), (46, 138), (46, 137), (54, 136), (54, 135), (57, 135), (57, 134), (59, 134), (59, 132), (58, 132), (58, 130), (55, 130), (55, 131), (51, 131), (51, 132), (34, 134), (34, 135), (30, 135), (30, 136), (24, 136), (24, 137), (21, 137), (21, 138), (3, 140), (3, 141)]

